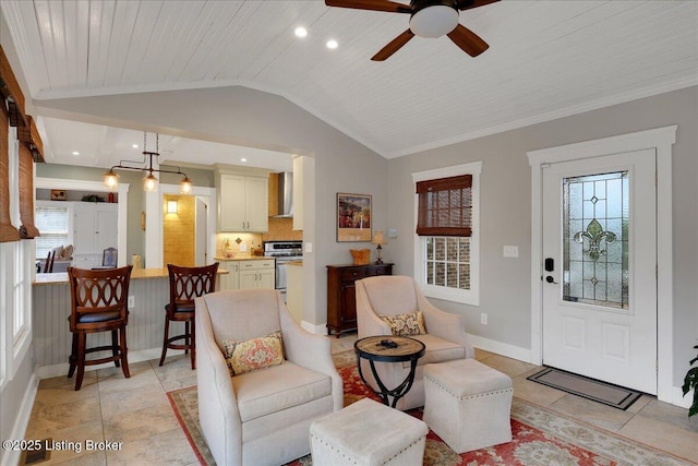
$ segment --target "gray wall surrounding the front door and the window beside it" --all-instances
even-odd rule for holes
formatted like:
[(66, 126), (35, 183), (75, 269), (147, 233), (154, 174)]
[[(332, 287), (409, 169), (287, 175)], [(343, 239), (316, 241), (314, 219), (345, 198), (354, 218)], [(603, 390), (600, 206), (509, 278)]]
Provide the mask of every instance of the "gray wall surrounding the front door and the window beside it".
[[(506, 111), (506, 109), (504, 109)], [(674, 379), (683, 382), (698, 338), (698, 87), (480, 138), (393, 159), (388, 174), (388, 224), (399, 238), (385, 248), (397, 272), (413, 271), (411, 174), (483, 160), (481, 176), (480, 306), (436, 301), (466, 316), (469, 333), (531, 348), (531, 186), (528, 151), (678, 124), (673, 150)], [(504, 259), (502, 247), (519, 247)], [(489, 325), (480, 324), (480, 313)]]

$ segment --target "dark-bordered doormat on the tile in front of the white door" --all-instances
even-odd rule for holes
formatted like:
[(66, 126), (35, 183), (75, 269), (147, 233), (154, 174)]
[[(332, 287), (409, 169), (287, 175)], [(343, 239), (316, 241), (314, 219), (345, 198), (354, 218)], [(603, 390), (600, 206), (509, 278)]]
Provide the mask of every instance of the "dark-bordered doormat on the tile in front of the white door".
[(527, 379), (623, 410), (626, 410), (642, 396), (640, 392), (636, 392), (635, 390), (554, 368), (545, 368)]

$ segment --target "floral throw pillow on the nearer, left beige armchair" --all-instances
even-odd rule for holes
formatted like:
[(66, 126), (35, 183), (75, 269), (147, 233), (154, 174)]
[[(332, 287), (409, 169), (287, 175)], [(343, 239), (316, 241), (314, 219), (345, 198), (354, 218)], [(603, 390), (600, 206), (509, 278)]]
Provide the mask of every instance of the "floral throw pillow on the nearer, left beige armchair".
[(230, 377), (284, 363), (281, 331), (244, 342), (226, 339), (222, 345)]

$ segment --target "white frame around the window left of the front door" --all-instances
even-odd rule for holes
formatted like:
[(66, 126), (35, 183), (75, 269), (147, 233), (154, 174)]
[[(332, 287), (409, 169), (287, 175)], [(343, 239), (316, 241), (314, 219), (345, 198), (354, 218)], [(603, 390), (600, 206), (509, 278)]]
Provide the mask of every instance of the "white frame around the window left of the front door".
[[(472, 228), (470, 235), (470, 289), (447, 288), (426, 284), (424, 252), (426, 237), (414, 234), (414, 278), (422, 291), (430, 298), (446, 301), (461, 302), (465, 304), (480, 306), (480, 174), (482, 162), (456, 165), (433, 170), (417, 171), (412, 174), (412, 182), (417, 186), (420, 181), (449, 178), (462, 175), (472, 176)], [(414, 190), (416, 191), (416, 190)], [(414, 194), (414, 225), (419, 215), (419, 195)]]

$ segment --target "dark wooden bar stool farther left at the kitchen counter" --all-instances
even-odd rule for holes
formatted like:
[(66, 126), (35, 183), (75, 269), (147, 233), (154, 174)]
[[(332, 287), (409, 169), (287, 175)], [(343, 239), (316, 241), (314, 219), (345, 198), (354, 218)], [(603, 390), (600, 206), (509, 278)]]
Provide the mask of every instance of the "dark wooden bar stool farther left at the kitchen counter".
[[(85, 366), (113, 361), (116, 367), (121, 363), (127, 379), (131, 377), (127, 359), (127, 299), (132, 268), (132, 265), (105, 271), (68, 267), (71, 300), (69, 322), (73, 334), (68, 378), (72, 378), (77, 368), (75, 390), (82, 386)], [(111, 332), (111, 345), (87, 348), (87, 334), (98, 332)], [(87, 354), (96, 351), (111, 351), (111, 356), (86, 360)]]

